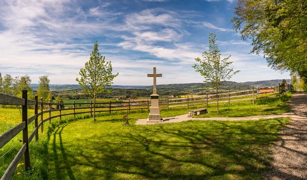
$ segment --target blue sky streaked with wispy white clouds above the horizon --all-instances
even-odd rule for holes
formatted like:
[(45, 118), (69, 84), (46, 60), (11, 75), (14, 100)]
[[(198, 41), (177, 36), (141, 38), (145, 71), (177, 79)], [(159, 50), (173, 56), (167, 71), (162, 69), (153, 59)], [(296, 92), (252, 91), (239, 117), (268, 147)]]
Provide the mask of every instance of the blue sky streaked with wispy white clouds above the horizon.
[(208, 50), (215, 33), (222, 58), (231, 55), (232, 81), (289, 78), (267, 66), (263, 56), (249, 54), (229, 20), (235, 0), (5, 1), (0, 0), (0, 72), (28, 74), (32, 83), (49, 75), (52, 84), (77, 84), (95, 40), (111, 61), (117, 85), (202, 82), (191, 67)]

